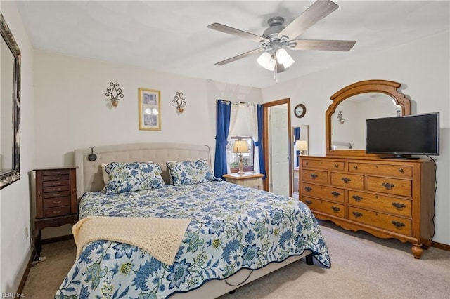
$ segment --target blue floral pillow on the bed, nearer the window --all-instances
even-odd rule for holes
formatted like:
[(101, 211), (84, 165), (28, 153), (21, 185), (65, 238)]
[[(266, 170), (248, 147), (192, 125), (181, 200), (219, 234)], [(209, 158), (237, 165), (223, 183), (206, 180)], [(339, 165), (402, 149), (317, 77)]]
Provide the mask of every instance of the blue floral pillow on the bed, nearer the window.
[(205, 159), (193, 161), (169, 161), (167, 162), (172, 182), (175, 186), (193, 185), (200, 182), (212, 182), (219, 180), (210, 171)]

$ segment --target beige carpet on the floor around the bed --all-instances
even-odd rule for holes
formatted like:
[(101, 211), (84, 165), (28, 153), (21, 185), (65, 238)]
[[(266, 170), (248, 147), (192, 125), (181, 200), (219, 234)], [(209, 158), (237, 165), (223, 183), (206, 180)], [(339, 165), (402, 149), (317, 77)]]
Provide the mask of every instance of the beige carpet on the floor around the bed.
[[(450, 298), (450, 252), (432, 247), (415, 260), (411, 244), (321, 223), (330, 269), (300, 260), (221, 299)], [(44, 244), (42, 256), (46, 260), (30, 270), (25, 298), (53, 298), (75, 260), (75, 244)]]

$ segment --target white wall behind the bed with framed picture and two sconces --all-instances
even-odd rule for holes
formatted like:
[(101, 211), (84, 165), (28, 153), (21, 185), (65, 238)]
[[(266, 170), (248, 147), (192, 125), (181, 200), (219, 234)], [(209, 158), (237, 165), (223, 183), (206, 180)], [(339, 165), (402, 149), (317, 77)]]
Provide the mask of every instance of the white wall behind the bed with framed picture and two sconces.
[[(34, 55), (34, 78), (37, 167), (72, 166), (77, 148), (127, 142), (205, 144), (214, 154), (216, 100), (262, 102), (259, 88), (42, 51)], [(116, 108), (105, 96), (110, 82), (120, 84), (124, 94)], [(139, 87), (161, 91), (161, 131), (139, 131)], [(186, 100), (181, 115), (172, 102), (177, 91)], [(49, 227), (42, 237), (70, 234), (70, 230), (70, 225)]]

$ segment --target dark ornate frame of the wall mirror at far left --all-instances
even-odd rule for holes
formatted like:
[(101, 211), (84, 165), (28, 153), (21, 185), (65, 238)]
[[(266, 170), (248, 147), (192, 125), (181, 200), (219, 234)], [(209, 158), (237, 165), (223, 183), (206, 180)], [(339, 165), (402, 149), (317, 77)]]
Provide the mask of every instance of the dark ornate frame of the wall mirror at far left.
[[(11, 142), (13, 148), (12, 157), (10, 157), (12, 167), (0, 170), (0, 189), (3, 189), (20, 179), (20, 48), (1, 12), (0, 34), (14, 56), (13, 82), (11, 82), (13, 84), (13, 94), (11, 95), (11, 98), (1, 99), (1, 101), (12, 101), (13, 103), (13, 111), (11, 112), (13, 119), (13, 124), (11, 126)], [(2, 138), (5, 137), (6, 136), (2, 136)]]

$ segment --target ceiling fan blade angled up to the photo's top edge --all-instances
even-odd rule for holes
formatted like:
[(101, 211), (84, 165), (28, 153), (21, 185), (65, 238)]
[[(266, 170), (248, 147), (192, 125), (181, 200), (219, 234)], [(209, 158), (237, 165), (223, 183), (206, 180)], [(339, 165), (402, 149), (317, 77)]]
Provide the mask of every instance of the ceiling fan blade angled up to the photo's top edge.
[(338, 7), (338, 4), (329, 0), (317, 0), (314, 4), (309, 6), (306, 11), (293, 20), (293, 22), (286, 26), (285, 29), (281, 30), (278, 36), (281, 38), (281, 36), (285, 35), (288, 36), (289, 39), (295, 39), (295, 37), (305, 32), (306, 29), (316, 22), (319, 22), (319, 20), (322, 20), (330, 13), (333, 13)]

